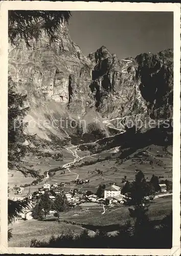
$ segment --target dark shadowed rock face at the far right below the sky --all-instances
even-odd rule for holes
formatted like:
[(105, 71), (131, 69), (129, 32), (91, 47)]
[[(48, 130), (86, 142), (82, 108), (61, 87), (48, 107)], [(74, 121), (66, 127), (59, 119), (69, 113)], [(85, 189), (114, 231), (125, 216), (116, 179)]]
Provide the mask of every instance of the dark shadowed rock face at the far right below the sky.
[(173, 50), (140, 54), (137, 78), (152, 118), (171, 118), (173, 114)]

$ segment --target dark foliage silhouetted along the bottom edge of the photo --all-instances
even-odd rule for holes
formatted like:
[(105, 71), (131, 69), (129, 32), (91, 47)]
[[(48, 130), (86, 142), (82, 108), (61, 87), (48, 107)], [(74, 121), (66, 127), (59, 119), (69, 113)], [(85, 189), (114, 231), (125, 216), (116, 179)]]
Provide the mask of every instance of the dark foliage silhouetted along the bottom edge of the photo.
[[(157, 226), (159, 225), (159, 228)], [(88, 230), (84, 230), (80, 236), (74, 236), (69, 231), (61, 233), (58, 237), (52, 236), (48, 242), (31, 241), (31, 247), (42, 248), (171, 248), (172, 247), (172, 215), (157, 222), (152, 222), (145, 230), (147, 233), (134, 233), (130, 223), (120, 228), (116, 237), (110, 237), (103, 230), (98, 230), (95, 237), (88, 236)]]

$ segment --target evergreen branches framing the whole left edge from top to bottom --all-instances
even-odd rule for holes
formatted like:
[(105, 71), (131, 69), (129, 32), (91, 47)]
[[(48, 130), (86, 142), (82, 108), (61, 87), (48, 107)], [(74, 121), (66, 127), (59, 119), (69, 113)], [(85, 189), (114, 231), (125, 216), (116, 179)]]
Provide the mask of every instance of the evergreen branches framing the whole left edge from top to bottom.
[[(58, 31), (59, 25), (69, 21), (70, 11), (31, 11), (11, 10), (8, 13), (9, 41), (15, 45), (16, 38), (25, 40), (30, 47), (29, 40), (38, 39), (42, 32), (46, 32), (50, 41), (54, 39), (54, 33)], [(8, 79), (8, 168), (20, 170), (25, 176), (27, 170), (21, 165), (22, 158), (30, 151), (32, 137), (24, 133), (27, 124), (23, 123), (29, 108), (25, 108), (27, 96), (16, 92), (12, 79)], [(18, 129), (14, 129), (18, 122)], [(28, 142), (28, 144), (26, 143)], [(30, 143), (29, 143), (30, 142)], [(28, 205), (27, 200), (8, 200), (8, 222), (12, 223), (14, 218)], [(8, 238), (11, 234), (8, 232)]]

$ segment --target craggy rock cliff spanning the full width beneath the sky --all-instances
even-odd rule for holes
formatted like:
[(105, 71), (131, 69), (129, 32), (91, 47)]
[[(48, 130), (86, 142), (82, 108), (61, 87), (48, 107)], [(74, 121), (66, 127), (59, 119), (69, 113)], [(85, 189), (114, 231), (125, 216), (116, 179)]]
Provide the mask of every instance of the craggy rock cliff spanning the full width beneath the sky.
[[(119, 60), (102, 46), (84, 56), (62, 24), (53, 42), (44, 34), (27, 48), (17, 38), (16, 46), (9, 48), (9, 75), (17, 90), (28, 94), (28, 119), (41, 119), (41, 127), (29, 127), (29, 132), (41, 138), (50, 139), (50, 134), (64, 138), (74, 133), (70, 127), (44, 127), (43, 121), (60, 117), (81, 117), (88, 123), (97, 116), (112, 120), (113, 126), (101, 126), (106, 133), (110, 129), (124, 131), (129, 117), (134, 121), (172, 118), (171, 49)], [(118, 119), (119, 127), (115, 123)]]

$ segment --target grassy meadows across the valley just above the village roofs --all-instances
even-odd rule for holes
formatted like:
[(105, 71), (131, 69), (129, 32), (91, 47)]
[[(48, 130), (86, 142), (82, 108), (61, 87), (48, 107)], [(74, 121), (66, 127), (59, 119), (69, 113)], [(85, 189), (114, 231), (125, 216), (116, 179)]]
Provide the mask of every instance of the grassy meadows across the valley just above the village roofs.
[[(113, 148), (108, 151), (101, 152), (99, 154), (84, 158), (79, 163), (75, 164), (75, 167), (71, 168), (71, 172), (79, 175), (79, 179), (89, 179), (90, 182), (82, 185), (67, 185), (65, 189), (69, 188), (79, 188), (81, 190), (91, 190), (93, 193), (96, 192), (99, 184), (109, 184), (117, 183), (121, 184), (124, 176), (127, 177), (127, 180), (132, 181), (135, 177), (135, 169), (141, 169), (145, 174), (145, 178), (149, 180), (151, 176), (154, 174), (156, 176), (163, 176), (164, 179), (172, 180), (172, 148), (168, 147), (169, 154), (165, 154), (162, 146), (150, 145), (149, 147), (143, 148), (142, 151), (147, 152), (148, 157), (144, 158), (144, 156), (138, 158), (135, 157), (135, 154), (138, 154), (140, 150), (135, 151), (133, 154), (129, 156), (129, 159), (124, 160), (121, 163), (121, 159), (119, 159), (119, 147)], [(51, 157), (41, 157), (38, 159), (35, 157), (26, 157), (25, 165), (27, 167), (32, 166), (32, 169), (40, 170), (40, 174), (43, 174), (44, 171), (48, 171), (52, 168), (62, 166), (65, 163), (72, 162), (74, 157), (73, 155), (66, 151), (62, 150), (63, 161), (56, 161)], [(83, 152), (78, 152), (80, 156), (83, 155)], [(162, 155), (159, 157), (158, 155)], [(87, 161), (96, 161), (99, 159), (104, 159), (109, 156), (109, 160), (95, 162), (90, 165), (83, 165), (85, 160)], [(143, 160), (142, 162), (140, 160)], [(150, 164), (150, 161), (153, 161), (153, 164)], [(98, 174), (99, 169), (102, 171), (102, 175)], [(49, 183), (53, 184), (55, 182), (70, 182), (75, 180), (77, 175), (69, 172), (65, 169), (65, 174), (61, 174), (61, 170), (57, 171), (53, 177), (49, 179)], [(13, 174), (13, 177), (12, 177)], [(31, 176), (24, 177), (20, 172), (9, 171), (8, 175), (8, 183), (9, 187), (13, 188), (15, 185), (19, 186), (21, 184), (31, 183), (33, 178)], [(37, 185), (31, 186), (31, 193), (36, 191), (38, 187), (41, 187), (44, 182), (40, 182)], [(25, 191), (22, 193), (22, 196), (27, 195), (29, 192), (29, 187), (25, 188)], [(15, 191), (10, 191), (10, 197), (15, 197)]]

